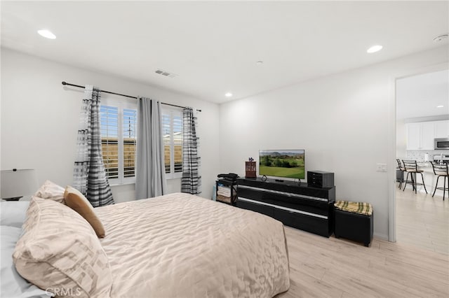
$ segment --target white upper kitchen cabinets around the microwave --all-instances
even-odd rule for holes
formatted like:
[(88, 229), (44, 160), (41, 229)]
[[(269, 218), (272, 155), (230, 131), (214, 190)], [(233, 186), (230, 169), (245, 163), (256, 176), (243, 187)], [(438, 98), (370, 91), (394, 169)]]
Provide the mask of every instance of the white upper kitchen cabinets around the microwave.
[(434, 150), (435, 138), (447, 138), (449, 120), (407, 123), (407, 150)]

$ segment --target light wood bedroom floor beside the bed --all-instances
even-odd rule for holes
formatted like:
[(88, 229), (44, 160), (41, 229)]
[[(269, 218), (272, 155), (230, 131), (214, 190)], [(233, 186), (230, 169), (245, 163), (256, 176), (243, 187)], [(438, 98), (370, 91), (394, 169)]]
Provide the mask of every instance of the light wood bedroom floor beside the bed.
[(448, 255), (373, 239), (369, 248), (286, 227), (290, 290), (277, 298), (449, 297)]

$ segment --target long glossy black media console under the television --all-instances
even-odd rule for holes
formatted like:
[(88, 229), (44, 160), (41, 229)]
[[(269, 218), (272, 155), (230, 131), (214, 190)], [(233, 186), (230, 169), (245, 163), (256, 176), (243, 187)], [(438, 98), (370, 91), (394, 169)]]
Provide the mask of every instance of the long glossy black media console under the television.
[(269, 215), (284, 225), (326, 237), (334, 232), (335, 186), (238, 178), (237, 197), (237, 207)]

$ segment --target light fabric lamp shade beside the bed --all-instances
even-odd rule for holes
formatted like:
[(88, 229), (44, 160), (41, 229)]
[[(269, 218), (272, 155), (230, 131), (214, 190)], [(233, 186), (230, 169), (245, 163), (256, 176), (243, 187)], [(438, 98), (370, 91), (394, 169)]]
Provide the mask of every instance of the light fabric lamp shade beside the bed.
[(29, 196), (39, 187), (34, 169), (0, 171), (0, 180), (1, 199)]

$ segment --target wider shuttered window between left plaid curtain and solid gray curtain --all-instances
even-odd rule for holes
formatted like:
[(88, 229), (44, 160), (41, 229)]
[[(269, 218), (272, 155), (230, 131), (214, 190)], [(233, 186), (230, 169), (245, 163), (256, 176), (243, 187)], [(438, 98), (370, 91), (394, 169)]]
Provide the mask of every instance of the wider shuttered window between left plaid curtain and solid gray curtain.
[(136, 104), (106, 102), (100, 106), (103, 162), (109, 182), (135, 182)]

